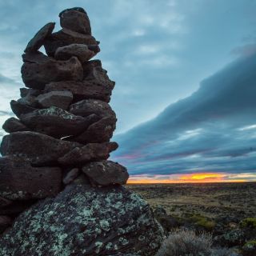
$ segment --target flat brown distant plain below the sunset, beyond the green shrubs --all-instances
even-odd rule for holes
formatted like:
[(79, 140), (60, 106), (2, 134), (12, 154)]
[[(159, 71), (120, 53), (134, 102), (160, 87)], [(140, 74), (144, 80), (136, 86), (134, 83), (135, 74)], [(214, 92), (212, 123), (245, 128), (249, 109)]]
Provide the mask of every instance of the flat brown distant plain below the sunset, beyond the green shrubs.
[(256, 182), (130, 184), (127, 187), (141, 194), (153, 209), (162, 206), (167, 214), (174, 216), (256, 217)]

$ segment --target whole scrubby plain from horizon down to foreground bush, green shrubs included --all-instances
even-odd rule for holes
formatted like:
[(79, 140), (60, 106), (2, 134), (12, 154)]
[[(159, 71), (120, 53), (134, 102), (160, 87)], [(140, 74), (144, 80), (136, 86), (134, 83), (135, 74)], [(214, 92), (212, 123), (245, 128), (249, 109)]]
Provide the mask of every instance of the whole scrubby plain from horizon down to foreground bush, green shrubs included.
[(215, 246), (256, 255), (256, 182), (128, 185), (154, 210), (166, 232), (213, 234)]

